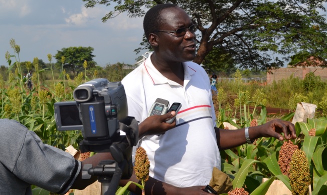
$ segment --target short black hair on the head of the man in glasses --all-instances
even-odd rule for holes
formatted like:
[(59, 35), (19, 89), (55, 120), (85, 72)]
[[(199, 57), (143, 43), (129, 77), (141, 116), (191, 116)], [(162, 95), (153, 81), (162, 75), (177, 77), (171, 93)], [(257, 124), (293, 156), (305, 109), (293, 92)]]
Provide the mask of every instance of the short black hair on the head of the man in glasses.
[(149, 34), (158, 30), (162, 24), (161, 11), (171, 7), (178, 7), (177, 4), (173, 3), (162, 3), (151, 7), (144, 16), (143, 29), (146, 39), (149, 39)]

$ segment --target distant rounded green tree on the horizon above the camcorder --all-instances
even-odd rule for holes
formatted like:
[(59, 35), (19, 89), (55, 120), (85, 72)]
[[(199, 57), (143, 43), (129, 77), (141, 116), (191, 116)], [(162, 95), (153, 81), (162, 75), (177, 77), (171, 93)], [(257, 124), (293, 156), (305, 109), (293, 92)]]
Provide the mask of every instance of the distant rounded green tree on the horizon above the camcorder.
[(55, 59), (57, 60), (57, 66), (61, 67), (62, 62), (61, 58), (62, 56), (65, 57), (64, 61), (64, 68), (69, 69), (73, 71), (74, 75), (77, 75), (75, 73), (78, 73), (80, 70), (83, 70), (83, 63), (84, 60), (88, 63), (88, 68), (95, 67), (96, 62), (93, 61), (93, 57), (95, 55), (92, 54), (94, 48), (93, 47), (76, 47), (71, 46), (68, 48), (62, 48), (61, 50), (57, 50), (57, 54), (54, 55)]

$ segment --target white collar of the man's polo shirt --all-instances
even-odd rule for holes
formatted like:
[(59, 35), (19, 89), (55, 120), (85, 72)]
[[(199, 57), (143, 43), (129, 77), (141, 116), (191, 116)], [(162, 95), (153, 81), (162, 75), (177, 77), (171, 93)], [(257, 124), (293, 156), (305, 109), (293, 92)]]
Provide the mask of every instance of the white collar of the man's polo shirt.
[[(144, 65), (146, 73), (152, 80), (152, 83), (153, 84), (169, 83), (171, 85), (179, 85), (178, 83), (166, 78), (154, 67), (154, 65), (151, 62), (151, 55), (152, 53), (149, 54), (149, 56), (147, 57), (147, 59), (145, 59), (142, 65)], [(189, 62), (184, 62), (183, 66), (184, 66), (184, 80), (190, 80), (191, 76), (196, 72), (196, 70), (191, 67)]]

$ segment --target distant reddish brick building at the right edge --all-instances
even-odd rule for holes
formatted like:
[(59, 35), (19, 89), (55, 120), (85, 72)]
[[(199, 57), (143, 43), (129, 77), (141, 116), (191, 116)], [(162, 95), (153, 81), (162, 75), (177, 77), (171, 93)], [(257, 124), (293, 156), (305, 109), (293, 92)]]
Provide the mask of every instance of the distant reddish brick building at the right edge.
[(291, 75), (304, 79), (305, 75), (309, 72), (314, 72), (314, 75), (320, 76), (321, 80), (327, 80), (327, 68), (320, 67), (319, 65), (321, 64), (323, 64), (323, 62), (319, 61), (318, 59), (314, 59), (311, 56), (307, 61), (299, 62), (293, 66), (288, 65), (287, 67), (270, 69), (267, 71), (267, 83), (270, 84), (274, 80), (278, 81), (281, 79), (286, 79)]

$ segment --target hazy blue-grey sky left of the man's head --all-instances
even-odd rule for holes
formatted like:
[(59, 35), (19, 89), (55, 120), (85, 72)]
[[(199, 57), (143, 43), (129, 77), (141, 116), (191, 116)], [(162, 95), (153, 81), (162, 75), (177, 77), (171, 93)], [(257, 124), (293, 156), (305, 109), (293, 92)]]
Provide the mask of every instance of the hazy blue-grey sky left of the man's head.
[[(82, 0), (0, 0), (0, 65), (8, 66), (6, 51), (13, 38), (20, 45), (20, 61), (34, 57), (48, 63), (48, 53), (70, 46), (91, 46), (98, 65), (123, 62), (134, 64), (143, 36), (143, 18), (126, 13), (102, 22), (113, 6), (85, 8)], [(15, 61), (15, 58), (12, 58)], [(53, 58), (52, 62), (56, 62)]]

